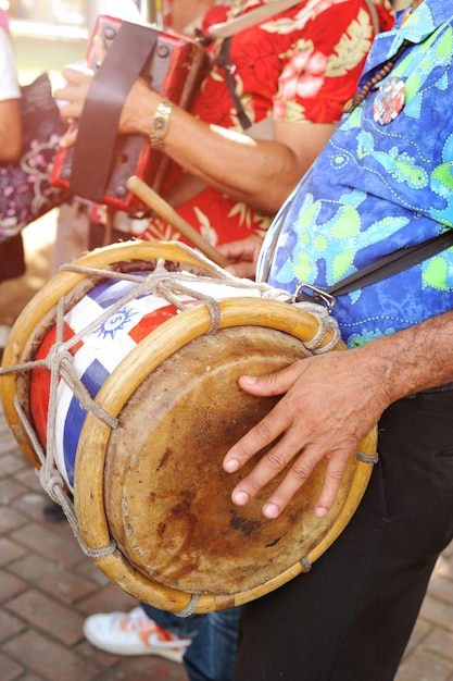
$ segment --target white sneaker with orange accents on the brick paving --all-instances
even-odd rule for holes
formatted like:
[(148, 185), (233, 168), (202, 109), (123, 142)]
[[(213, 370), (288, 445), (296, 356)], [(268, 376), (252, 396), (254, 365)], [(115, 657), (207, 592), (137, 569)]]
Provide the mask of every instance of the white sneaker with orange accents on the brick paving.
[(115, 655), (160, 655), (181, 663), (191, 639), (181, 639), (159, 627), (138, 606), (130, 612), (90, 615), (84, 634), (96, 647)]

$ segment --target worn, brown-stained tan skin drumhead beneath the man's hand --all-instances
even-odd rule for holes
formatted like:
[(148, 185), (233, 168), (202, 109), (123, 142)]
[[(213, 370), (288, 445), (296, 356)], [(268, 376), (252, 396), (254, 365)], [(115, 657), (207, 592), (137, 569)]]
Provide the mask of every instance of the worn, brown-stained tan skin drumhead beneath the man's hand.
[[(222, 468), (228, 448), (276, 401), (247, 395), (238, 377), (303, 357), (301, 343), (281, 332), (222, 330), (173, 355), (125, 405), (124, 426), (109, 442), (105, 505), (137, 569), (183, 591), (234, 594), (275, 579), (326, 534), (331, 517), (313, 512), (322, 469), (269, 521), (261, 512), (269, 487), (237, 507), (230, 494), (239, 476)], [(332, 516), (343, 503), (344, 492)]]

